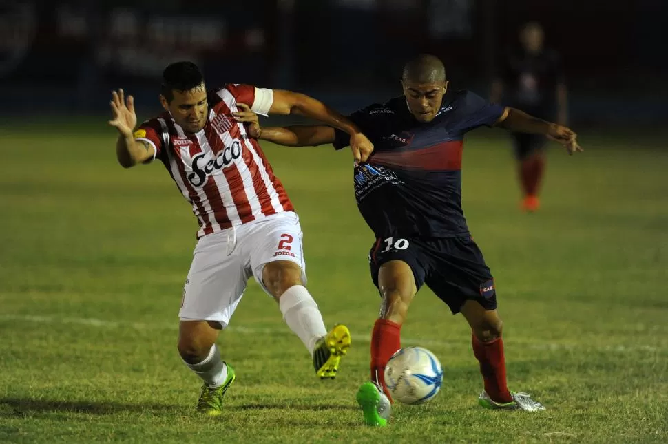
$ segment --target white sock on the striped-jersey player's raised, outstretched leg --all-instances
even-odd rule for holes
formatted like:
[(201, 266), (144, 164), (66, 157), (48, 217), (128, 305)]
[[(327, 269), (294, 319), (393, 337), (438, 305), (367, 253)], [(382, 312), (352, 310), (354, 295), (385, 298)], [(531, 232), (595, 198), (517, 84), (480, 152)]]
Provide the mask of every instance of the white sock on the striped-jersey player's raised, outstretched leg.
[(278, 299), (278, 306), (290, 330), (302, 340), (306, 349), (313, 355), (315, 343), (327, 334), (327, 330), (309, 290), (302, 285), (291, 286)]

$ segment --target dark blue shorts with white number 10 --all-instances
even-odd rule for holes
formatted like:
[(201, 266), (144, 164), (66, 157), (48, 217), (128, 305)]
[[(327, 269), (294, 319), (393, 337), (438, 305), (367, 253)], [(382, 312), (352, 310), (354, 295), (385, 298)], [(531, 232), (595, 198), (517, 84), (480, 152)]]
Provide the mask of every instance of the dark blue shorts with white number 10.
[(468, 300), (479, 302), (486, 310), (497, 308), (494, 278), (470, 236), (376, 240), (369, 253), (371, 278), (376, 287), (380, 267), (391, 260), (406, 262), (413, 271), (417, 289), (426, 284), (448, 304), (453, 314), (459, 313)]

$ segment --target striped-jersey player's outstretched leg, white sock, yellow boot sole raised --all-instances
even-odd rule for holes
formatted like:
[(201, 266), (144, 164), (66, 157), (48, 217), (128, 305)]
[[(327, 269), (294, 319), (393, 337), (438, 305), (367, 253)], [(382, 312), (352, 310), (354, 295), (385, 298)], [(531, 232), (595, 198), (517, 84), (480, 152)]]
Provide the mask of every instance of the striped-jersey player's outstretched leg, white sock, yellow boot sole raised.
[(334, 379), (341, 357), (351, 346), (348, 328), (339, 324), (327, 332), (320, 310), (302, 282), (302, 268), (295, 262), (269, 262), (262, 269), (262, 283), (278, 302), (286, 324), (313, 356), (315, 374)]

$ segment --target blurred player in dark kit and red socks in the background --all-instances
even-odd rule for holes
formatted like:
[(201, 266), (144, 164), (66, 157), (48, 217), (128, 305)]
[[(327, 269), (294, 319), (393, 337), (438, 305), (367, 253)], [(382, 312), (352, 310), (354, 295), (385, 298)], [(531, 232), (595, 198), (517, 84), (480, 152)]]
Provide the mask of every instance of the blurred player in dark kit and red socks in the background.
[[(519, 34), (520, 47), (510, 50), (501, 61), (499, 76), (492, 83), (490, 101), (504, 103), (532, 116), (566, 125), (567, 89), (559, 54), (544, 47), (545, 35), (539, 23), (530, 22)], [(511, 133), (518, 162), (523, 211), (540, 207), (539, 191), (545, 171), (545, 136)]]

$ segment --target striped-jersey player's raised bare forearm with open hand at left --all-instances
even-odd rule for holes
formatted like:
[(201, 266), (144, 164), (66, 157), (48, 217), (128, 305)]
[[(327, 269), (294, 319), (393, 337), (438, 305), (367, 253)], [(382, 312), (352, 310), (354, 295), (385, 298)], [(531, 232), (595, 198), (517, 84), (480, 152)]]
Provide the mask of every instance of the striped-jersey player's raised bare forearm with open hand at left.
[(152, 159), (156, 154), (156, 148), (146, 140), (135, 140), (132, 135), (132, 131), (137, 124), (134, 98), (127, 96), (127, 100), (125, 100), (123, 89), (118, 89), (118, 92), (112, 92), (110, 105), (114, 118), (109, 120), (109, 125), (118, 130), (118, 138), (116, 139), (116, 159), (118, 159), (118, 163), (123, 168), (129, 168)]

